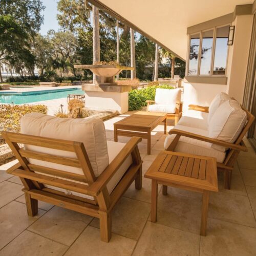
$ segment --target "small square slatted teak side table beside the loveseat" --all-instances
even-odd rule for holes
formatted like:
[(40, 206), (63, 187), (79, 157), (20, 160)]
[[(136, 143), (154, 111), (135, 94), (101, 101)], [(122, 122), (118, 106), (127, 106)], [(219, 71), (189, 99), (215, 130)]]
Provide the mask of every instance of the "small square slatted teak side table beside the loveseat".
[(167, 186), (197, 191), (203, 194), (201, 215), (201, 236), (206, 236), (210, 191), (218, 191), (216, 158), (162, 151), (156, 157), (146, 178), (152, 179), (151, 221), (157, 221), (157, 186)]

